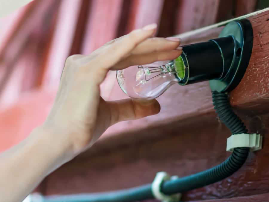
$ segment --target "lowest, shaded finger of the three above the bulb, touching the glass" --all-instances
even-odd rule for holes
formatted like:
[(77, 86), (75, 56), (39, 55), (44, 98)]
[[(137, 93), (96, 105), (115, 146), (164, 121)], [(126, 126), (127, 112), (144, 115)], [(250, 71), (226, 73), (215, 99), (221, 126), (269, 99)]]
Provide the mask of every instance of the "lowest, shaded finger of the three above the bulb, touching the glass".
[(117, 63), (111, 70), (124, 69), (133, 65), (144, 65), (156, 61), (174, 60), (181, 55), (181, 50), (153, 52), (148, 54), (131, 55)]

